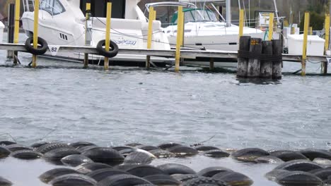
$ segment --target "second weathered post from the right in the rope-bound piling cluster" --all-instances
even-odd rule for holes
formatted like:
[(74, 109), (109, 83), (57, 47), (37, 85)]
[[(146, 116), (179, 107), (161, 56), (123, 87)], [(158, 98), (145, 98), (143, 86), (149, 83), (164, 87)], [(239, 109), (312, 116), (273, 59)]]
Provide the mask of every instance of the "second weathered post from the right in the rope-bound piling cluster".
[[(272, 41), (262, 42), (262, 54), (272, 55)], [(261, 60), (260, 77), (272, 78), (272, 61)]]

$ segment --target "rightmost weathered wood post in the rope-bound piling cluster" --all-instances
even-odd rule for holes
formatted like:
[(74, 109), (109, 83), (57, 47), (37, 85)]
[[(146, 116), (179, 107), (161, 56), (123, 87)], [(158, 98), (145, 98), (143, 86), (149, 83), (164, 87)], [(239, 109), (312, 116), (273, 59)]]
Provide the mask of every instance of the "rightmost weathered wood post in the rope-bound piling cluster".
[[(272, 40), (272, 55), (281, 56), (283, 47), (281, 44), (281, 39)], [(281, 63), (282, 61), (273, 61), (272, 62), (272, 79), (280, 80), (281, 79)]]

